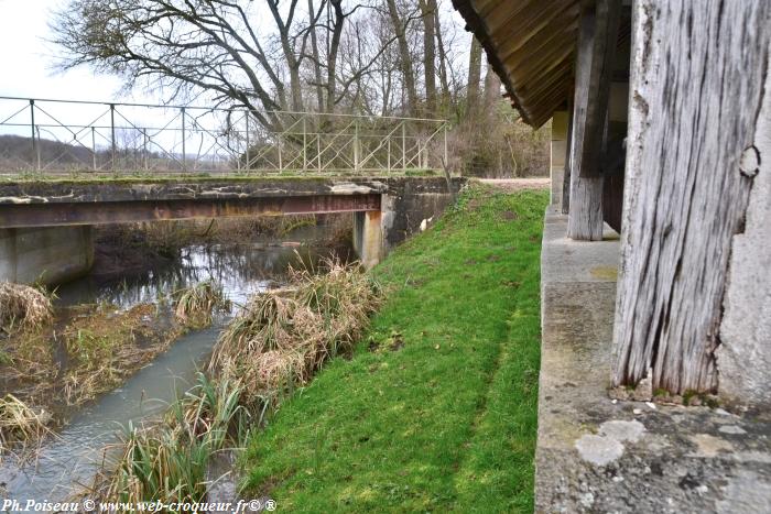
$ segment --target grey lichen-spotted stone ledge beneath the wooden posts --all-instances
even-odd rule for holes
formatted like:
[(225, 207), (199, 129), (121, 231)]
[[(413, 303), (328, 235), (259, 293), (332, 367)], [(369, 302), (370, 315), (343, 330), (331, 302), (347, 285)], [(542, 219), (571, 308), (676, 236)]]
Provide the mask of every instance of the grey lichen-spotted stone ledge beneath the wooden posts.
[(771, 417), (608, 396), (618, 236), (547, 211), (536, 512), (771, 512)]

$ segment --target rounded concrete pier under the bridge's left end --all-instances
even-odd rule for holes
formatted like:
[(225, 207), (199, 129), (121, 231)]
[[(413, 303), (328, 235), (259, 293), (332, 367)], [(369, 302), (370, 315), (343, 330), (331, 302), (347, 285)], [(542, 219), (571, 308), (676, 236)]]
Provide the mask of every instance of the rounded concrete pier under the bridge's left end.
[(91, 227), (0, 229), (0, 282), (61, 284), (94, 264)]

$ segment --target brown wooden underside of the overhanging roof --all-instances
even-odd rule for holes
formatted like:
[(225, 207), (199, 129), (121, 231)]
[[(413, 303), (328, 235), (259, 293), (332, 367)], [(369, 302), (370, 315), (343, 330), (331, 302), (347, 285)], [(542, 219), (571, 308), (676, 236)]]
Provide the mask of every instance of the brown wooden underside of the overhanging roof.
[(545, 123), (573, 85), (580, 0), (453, 0), (523, 120)]

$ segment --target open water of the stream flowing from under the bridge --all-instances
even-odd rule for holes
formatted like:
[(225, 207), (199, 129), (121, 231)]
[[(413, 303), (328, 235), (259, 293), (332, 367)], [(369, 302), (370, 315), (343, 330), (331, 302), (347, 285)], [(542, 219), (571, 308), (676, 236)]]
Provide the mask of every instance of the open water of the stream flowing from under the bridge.
[[(239, 245), (188, 247), (182, 259), (162, 270), (131, 280), (100, 283), (85, 277), (58, 289), (63, 305), (108, 302), (120, 307), (162, 302), (170, 292), (204, 280), (222, 284), (238, 306), (248, 296), (281, 283), (290, 264), (316, 261), (327, 249), (300, 245), (313, 240), (315, 228), (293, 233), (295, 241), (257, 241)], [(238, 308), (238, 307), (236, 307)], [(56, 437), (46, 440), (34, 462), (0, 466), (0, 499), (66, 500), (79, 485), (91, 483), (104, 448), (118, 440), (129, 422), (158, 417), (169, 402), (192, 385), (195, 372), (209, 356), (228, 316), (213, 327), (188, 332), (130, 378), (121, 387), (74, 413)], [(160, 320), (159, 322), (162, 322)]]

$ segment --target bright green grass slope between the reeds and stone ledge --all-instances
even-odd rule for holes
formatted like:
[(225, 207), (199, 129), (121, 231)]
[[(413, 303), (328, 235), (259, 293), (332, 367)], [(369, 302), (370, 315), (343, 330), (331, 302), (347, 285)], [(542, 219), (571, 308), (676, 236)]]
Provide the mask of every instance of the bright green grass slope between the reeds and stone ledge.
[(368, 335), (252, 436), (248, 493), (283, 512), (532, 512), (546, 200), (475, 186), (378, 266)]

